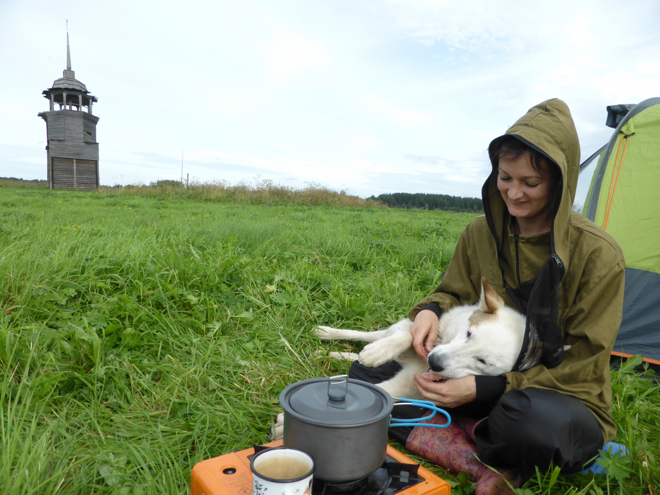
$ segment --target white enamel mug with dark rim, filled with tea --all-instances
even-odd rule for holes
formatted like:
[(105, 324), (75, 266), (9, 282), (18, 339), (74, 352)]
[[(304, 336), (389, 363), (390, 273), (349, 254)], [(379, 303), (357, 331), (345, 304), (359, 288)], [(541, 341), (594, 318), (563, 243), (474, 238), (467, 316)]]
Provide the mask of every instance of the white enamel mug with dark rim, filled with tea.
[(252, 457), (252, 495), (310, 495), (314, 457), (300, 449), (271, 447)]

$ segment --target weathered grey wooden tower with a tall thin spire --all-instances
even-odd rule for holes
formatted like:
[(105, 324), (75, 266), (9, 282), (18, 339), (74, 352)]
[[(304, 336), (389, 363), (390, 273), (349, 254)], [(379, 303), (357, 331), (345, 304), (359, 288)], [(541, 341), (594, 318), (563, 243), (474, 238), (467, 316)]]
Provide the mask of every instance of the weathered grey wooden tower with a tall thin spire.
[(98, 117), (92, 115), (92, 104), (98, 100), (71, 70), (69, 33), (67, 68), (42, 94), (49, 102), (49, 111), (38, 114), (46, 121), (48, 187), (98, 189)]

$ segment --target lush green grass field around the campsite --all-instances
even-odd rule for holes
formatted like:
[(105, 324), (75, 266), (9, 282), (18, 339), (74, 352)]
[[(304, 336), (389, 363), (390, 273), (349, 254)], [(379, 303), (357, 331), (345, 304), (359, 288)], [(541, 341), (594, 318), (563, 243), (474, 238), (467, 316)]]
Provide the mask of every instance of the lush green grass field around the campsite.
[[(198, 461), (269, 440), (286, 385), (347, 371), (308, 358), (356, 349), (314, 325), (400, 319), (471, 218), (3, 187), (0, 492), (188, 493)], [(526, 490), (655, 493), (659, 387), (612, 380), (620, 480)]]

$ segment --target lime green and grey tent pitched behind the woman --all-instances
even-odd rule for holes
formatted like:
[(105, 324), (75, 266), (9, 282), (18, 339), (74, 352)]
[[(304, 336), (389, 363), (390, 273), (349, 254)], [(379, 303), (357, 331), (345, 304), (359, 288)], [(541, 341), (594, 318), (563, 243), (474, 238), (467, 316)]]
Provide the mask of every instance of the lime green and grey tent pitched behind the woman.
[(614, 134), (580, 165), (573, 209), (610, 234), (626, 257), (613, 354), (660, 364), (660, 98), (607, 113)]

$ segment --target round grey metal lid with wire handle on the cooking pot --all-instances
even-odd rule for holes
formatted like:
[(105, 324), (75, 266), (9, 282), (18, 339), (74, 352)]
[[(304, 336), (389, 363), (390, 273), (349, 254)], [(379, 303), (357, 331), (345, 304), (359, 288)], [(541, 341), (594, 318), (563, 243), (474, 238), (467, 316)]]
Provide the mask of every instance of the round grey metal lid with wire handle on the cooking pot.
[(383, 389), (347, 375), (293, 383), (282, 390), (280, 403), (296, 418), (329, 426), (375, 422), (388, 416), (393, 406)]

